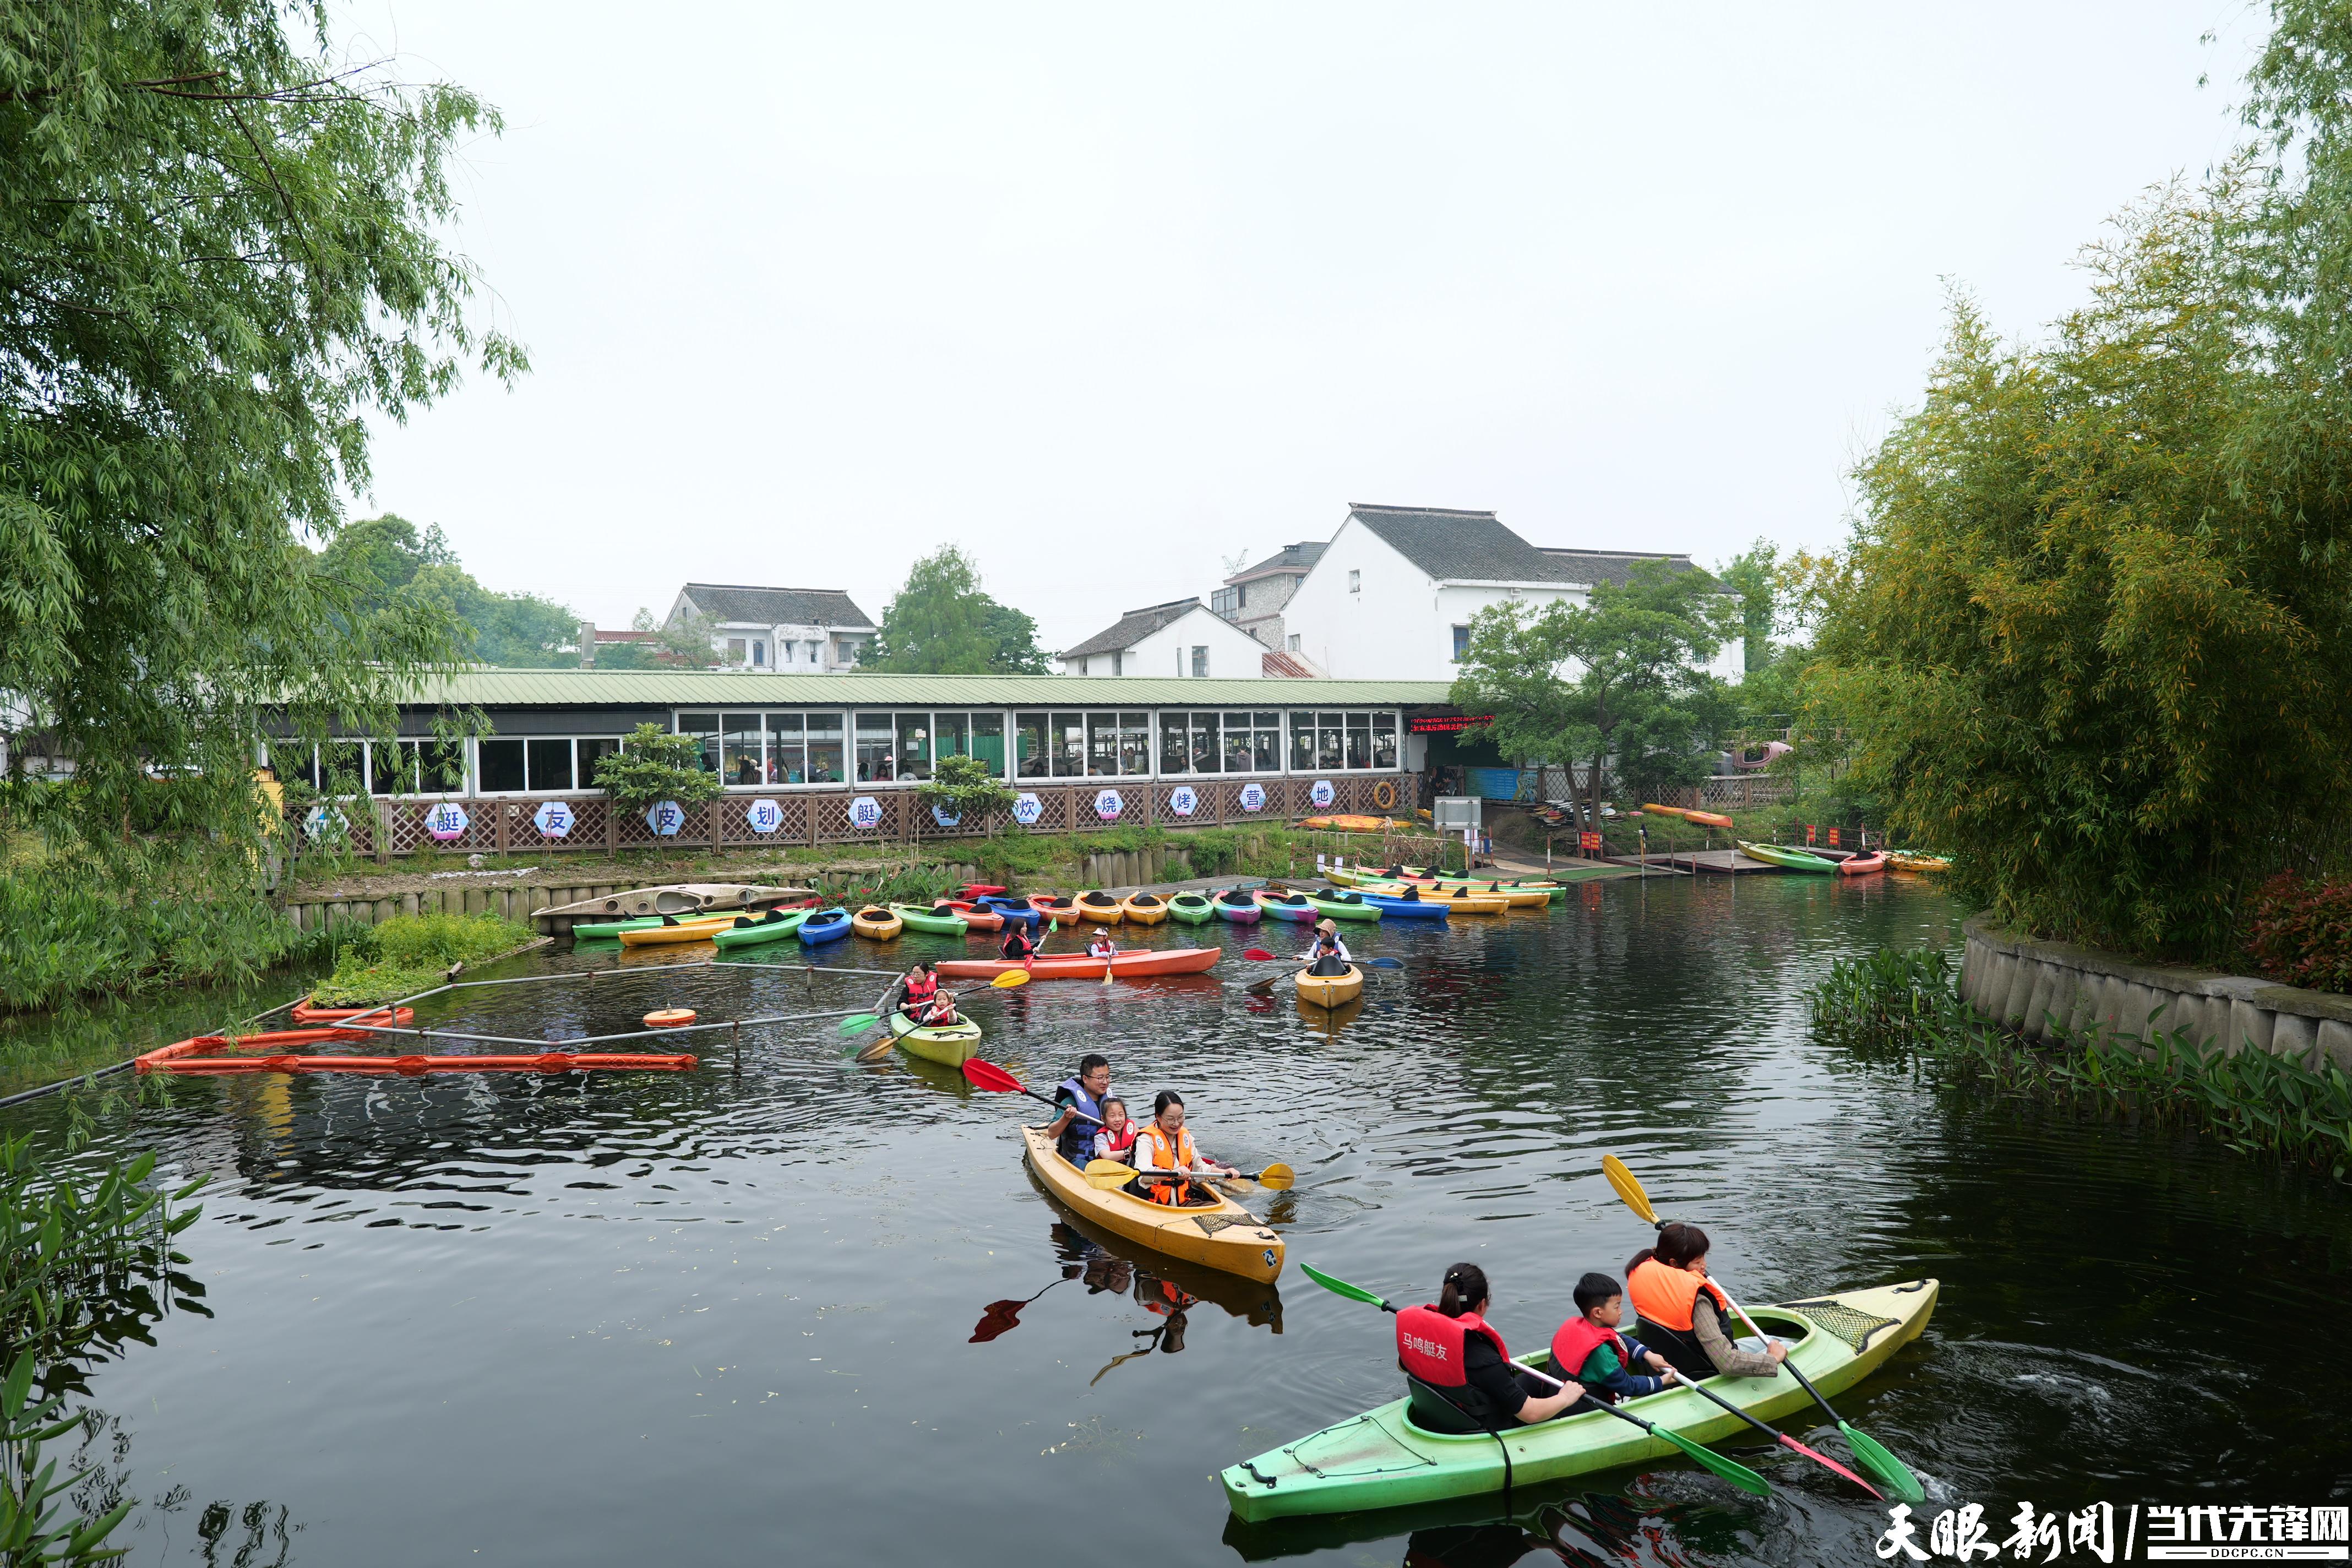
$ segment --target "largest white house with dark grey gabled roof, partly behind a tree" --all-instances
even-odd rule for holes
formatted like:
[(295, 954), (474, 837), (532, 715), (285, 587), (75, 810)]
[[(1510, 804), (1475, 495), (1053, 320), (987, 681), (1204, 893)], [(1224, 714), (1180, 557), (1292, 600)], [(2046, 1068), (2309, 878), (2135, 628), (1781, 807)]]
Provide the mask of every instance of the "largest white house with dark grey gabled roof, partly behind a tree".
[[(1359, 503), (1287, 595), (1284, 642), (1334, 679), (1454, 679), (1477, 611), (1505, 599), (1588, 604), (1597, 583), (1623, 583), (1644, 559), (1698, 569), (1689, 555), (1543, 550), (1494, 512)], [(1708, 668), (1736, 682), (1740, 639)]]

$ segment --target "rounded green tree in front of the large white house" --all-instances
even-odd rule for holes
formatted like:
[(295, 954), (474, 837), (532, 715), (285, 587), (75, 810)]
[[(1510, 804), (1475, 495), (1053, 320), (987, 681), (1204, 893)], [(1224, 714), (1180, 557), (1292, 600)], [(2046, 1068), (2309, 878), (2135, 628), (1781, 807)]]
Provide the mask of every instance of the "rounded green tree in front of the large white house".
[(1637, 562), (1625, 583), (1597, 583), (1590, 604), (1503, 602), (1470, 618), (1454, 705), (1491, 712), (1482, 733), (1505, 757), (1585, 766), (1585, 820), (1599, 820), (1609, 757), (1618, 783), (1696, 783), (1731, 719), (1708, 675), (1738, 628), (1738, 599), (1705, 571)]

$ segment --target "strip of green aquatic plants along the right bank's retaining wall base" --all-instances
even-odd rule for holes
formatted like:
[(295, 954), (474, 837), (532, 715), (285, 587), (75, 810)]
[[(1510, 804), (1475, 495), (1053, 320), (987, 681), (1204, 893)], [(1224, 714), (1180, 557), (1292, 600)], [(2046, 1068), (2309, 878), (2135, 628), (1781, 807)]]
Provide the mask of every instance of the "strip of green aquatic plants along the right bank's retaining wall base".
[[(2270, 1051), (2201, 1048), (2166, 1030), (2004, 1030), (1962, 999), (1952, 961), (1933, 950), (1839, 959), (1806, 992), (1818, 1039), (1877, 1060), (1915, 1060), (1997, 1093), (2042, 1095), (2100, 1112), (2197, 1126), (2241, 1154), (2274, 1152), (2352, 1173), (2352, 1074)], [(2161, 1011), (2159, 1011), (2161, 1018)]]

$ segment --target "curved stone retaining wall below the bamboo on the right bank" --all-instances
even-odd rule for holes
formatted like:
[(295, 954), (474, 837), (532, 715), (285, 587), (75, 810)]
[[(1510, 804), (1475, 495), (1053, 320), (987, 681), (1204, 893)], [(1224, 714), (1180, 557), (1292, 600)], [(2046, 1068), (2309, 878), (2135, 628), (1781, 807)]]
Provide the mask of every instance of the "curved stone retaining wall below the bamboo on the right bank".
[(2305, 1067), (2326, 1060), (2352, 1072), (2352, 997), (2274, 985), (2173, 964), (2136, 964), (2096, 947), (2002, 931), (1978, 914), (1966, 924), (1959, 994), (2027, 1039), (2154, 1032), (2211, 1051), (2272, 1051)]

